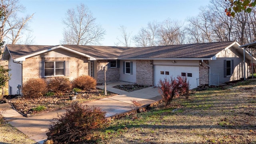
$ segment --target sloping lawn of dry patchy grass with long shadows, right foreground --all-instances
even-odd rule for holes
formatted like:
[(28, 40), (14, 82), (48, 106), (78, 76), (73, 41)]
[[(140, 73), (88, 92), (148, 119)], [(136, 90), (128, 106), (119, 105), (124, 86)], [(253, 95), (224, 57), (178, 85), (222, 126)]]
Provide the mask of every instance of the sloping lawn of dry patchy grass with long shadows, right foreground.
[(113, 120), (103, 143), (255, 144), (256, 81), (242, 84), (175, 99), (170, 108), (140, 113), (138, 120)]

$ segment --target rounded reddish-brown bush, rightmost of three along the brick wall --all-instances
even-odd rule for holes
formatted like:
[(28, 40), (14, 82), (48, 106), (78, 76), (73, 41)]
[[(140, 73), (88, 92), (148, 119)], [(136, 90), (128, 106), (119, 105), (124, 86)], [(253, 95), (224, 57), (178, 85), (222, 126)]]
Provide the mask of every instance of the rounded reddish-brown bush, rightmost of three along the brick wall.
[(91, 76), (82, 75), (73, 80), (72, 88), (80, 88), (82, 90), (95, 89), (96, 80)]

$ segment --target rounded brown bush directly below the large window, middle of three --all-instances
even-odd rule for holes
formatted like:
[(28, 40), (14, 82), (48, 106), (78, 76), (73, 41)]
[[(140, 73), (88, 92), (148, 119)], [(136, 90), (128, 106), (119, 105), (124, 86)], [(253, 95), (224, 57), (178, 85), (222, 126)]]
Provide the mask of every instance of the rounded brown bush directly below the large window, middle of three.
[(53, 92), (66, 92), (71, 89), (70, 80), (65, 77), (55, 77), (48, 82), (48, 89)]

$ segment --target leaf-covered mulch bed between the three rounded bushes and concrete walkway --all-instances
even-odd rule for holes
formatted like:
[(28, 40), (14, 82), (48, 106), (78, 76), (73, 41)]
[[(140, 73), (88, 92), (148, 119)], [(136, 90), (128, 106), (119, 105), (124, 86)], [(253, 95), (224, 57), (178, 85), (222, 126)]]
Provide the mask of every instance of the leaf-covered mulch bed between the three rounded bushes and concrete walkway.
[[(10, 96), (7, 96), (7, 98), (3, 98), (1, 102), (10, 103), (14, 107), (14, 109), (16, 109), (24, 116), (31, 116), (42, 112), (68, 108), (71, 104), (74, 104), (75, 102), (86, 103), (115, 95), (116, 94), (112, 92), (108, 92), (108, 95), (105, 96), (104, 90), (95, 89), (79, 92), (76, 96), (76, 100), (70, 100), (69, 96), (67, 94), (64, 94), (63, 96), (41, 96), (38, 98), (24, 98), (20, 96), (12, 98)], [(38, 108), (38, 106), (44, 106), (45, 109), (40, 111), (35, 110), (35, 108)]]

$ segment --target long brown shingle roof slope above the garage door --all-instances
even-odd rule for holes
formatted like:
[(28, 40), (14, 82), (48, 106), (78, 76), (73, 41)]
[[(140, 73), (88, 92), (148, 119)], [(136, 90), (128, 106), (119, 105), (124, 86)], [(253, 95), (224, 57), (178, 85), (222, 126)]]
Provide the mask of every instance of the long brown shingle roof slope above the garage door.
[(120, 58), (211, 58), (234, 42), (129, 48)]

